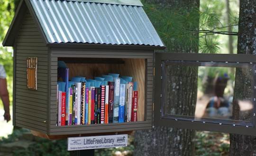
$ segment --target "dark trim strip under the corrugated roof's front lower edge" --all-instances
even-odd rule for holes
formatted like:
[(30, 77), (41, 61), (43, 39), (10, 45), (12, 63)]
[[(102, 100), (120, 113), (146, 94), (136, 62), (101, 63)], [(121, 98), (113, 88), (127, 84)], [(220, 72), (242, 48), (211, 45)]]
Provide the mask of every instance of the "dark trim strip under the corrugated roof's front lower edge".
[(164, 50), (165, 46), (151, 45), (113, 45), (113, 44), (95, 44), (95, 43), (47, 43), (50, 48), (91, 48), (91, 49), (129, 49), (129, 50)]

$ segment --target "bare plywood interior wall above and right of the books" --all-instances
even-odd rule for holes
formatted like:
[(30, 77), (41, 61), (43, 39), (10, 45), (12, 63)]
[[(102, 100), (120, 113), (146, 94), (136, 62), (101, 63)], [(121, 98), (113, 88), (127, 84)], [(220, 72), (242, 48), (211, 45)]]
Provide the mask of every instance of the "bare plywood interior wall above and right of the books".
[[(80, 60), (82, 63), (66, 63), (69, 68), (69, 78), (71, 79), (75, 76), (83, 76), (87, 79), (93, 79), (94, 77), (108, 73), (119, 73), (121, 76), (133, 77), (133, 82), (136, 81), (138, 84), (137, 121), (144, 121), (145, 59), (117, 59), (116, 61), (111, 59), (111, 61), (115, 62), (108, 62), (108, 59), (96, 59), (95, 61), (98, 63), (85, 63), (86, 59), (83, 61)], [(118, 64), (117, 62), (121, 63)]]

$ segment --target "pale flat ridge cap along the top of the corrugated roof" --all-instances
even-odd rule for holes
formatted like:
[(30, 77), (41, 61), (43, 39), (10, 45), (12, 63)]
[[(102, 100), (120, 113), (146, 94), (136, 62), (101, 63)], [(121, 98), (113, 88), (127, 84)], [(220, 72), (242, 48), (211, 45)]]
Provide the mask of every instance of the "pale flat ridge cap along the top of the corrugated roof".
[(61, 1), (78, 1), (78, 2), (91, 2), (91, 3), (105, 3), (116, 5), (131, 5), (143, 7), (140, 0), (61, 0)]

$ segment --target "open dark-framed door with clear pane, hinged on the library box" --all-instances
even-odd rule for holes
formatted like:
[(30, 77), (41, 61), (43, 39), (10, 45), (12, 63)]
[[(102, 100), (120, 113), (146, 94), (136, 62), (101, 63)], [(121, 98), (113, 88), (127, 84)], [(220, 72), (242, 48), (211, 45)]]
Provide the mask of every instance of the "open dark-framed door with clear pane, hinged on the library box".
[(254, 55), (155, 53), (154, 125), (256, 135), (255, 82)]

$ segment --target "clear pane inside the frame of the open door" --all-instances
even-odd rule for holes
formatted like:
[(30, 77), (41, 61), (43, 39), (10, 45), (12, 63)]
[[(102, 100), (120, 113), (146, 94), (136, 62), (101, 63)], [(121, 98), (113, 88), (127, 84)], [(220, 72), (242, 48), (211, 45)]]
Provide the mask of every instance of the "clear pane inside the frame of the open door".
[[(179, 115), (183, 119), (216, 119), (227, 123), (231, 120), (251, 121), (254, 109), (253, 64), (164, 61), (163, 65), (162, 117)], [(239, 78), (245, 78), (247, 94), (234, 92), (239, 90), (235, 86), (235, 79)], [(234, 109), (238, 109), (239, 114), (233, 114)]]

